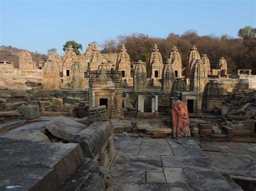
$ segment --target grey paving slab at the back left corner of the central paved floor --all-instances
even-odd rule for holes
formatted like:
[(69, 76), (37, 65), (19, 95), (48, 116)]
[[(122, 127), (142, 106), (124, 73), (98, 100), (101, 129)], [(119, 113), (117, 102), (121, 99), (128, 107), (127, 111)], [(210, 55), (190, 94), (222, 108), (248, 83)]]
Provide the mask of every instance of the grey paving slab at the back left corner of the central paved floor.
[(142, 138), (123, 138), (119, 137), (114, 142), (114, 147), (121, 154), (138, 154)]

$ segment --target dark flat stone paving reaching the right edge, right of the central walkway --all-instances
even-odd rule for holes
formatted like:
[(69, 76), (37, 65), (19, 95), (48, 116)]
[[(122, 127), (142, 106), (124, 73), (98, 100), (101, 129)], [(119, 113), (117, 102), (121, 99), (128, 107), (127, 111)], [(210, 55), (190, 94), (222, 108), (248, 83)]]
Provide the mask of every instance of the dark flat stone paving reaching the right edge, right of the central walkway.
[(256, 181), (255, 143), (201, 143), (218, 171)]

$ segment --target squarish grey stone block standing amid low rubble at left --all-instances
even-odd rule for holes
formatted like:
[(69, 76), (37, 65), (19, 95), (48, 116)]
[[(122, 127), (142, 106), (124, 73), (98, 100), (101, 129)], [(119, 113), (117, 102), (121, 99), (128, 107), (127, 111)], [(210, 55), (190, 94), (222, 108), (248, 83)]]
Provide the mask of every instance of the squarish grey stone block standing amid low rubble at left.
[(38, 105), (27, 105), (18, 107), (18, 111), (25, 119), (36, 119), (40, 117), (40, 109)]

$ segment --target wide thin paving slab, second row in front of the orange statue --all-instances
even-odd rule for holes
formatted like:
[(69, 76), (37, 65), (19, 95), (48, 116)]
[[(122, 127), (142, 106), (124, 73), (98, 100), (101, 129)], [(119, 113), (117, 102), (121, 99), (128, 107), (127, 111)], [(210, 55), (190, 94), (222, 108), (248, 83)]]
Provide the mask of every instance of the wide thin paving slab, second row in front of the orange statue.
[(208, 158), (191, 156), (161, 156), (164, 167), (176, 168), (212, 168), (212, 162)]

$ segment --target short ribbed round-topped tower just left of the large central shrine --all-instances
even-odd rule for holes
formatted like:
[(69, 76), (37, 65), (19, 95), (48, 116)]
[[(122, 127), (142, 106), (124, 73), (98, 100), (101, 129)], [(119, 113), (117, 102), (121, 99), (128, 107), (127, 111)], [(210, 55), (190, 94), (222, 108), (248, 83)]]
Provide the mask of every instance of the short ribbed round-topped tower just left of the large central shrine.
[(75, 61), (71, 67), (70, 87), (72, 89), (84, 89), (84, 67), (79, 61)]

